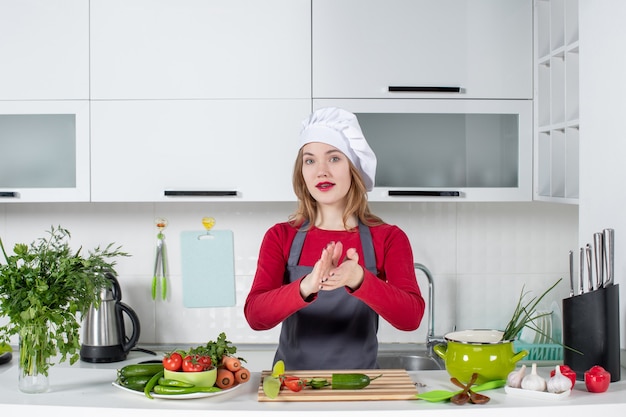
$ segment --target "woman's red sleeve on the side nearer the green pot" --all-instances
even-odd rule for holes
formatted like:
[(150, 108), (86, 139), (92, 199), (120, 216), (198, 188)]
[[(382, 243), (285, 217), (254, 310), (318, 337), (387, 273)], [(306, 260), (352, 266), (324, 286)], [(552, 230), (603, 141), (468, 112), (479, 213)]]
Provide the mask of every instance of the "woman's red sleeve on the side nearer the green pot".
[(397, 226), (370, 228), (379, 276), (365, 271), (363, 283), (352, 295), (359, 298), (392, 326), (411, 331), (424, 317), (422, 297), (406, 234)]

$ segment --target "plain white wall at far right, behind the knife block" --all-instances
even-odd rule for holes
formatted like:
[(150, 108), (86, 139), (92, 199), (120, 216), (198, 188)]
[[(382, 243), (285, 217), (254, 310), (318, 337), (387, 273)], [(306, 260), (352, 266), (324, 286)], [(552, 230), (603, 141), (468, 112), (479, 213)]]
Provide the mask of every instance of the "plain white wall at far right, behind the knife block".
[(626, 346), (626, 2), (579, 0), (579, 244), (615, 229), (615, 282), (620, 288), (621, 347)]

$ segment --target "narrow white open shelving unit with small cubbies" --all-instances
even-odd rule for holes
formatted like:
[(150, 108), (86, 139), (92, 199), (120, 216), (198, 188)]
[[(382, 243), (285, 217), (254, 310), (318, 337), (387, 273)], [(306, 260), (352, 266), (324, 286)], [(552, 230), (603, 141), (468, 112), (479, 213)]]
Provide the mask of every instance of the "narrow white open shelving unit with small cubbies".
[(579, 197), (578, 1), (535, 1), (534, 199)]

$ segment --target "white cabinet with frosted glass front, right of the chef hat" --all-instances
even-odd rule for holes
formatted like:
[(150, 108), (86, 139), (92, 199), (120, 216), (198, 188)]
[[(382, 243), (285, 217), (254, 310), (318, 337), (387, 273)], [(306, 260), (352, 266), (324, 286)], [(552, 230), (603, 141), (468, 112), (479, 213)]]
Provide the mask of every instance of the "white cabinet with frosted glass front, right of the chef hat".
[(531, 100), (314, 100), (354, 112), (376, 153), (370, 201), (531, 201)]

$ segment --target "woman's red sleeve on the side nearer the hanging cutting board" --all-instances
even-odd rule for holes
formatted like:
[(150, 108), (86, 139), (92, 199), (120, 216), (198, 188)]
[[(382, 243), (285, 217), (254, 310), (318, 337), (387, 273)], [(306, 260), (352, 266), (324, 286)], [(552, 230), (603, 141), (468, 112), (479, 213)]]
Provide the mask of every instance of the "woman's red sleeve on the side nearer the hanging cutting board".
[(299, 280), (283, 285), (296, 232), (287, 223), (279, 223), (263, 237), (256, 274), (244, 306), (244, 315), (253, 330), (271, 329), (308, 304), (300, 295)]

